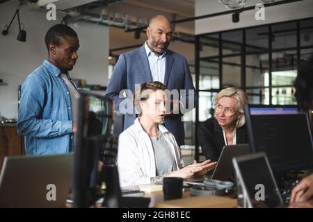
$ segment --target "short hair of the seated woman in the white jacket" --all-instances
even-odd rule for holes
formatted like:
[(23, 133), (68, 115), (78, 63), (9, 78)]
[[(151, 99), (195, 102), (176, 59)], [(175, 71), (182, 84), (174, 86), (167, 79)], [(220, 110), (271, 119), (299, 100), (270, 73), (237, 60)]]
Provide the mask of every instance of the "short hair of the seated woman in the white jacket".
[(154, 81), (151, 83), (143, 83), (135, 89), (135, 93), (133, 96), (133, 103), (134, 103), (136, 112), (138, 113), (139, 117), (142, 114), (140, 102), (149, 99), (149, 93), (147, 94), (143, 93), (147, 89), (152, 90), (152, 92), (155, 92), (159, 89), (164, 91), (166, 89), (166, 85), (164, 85), (161, 82)]

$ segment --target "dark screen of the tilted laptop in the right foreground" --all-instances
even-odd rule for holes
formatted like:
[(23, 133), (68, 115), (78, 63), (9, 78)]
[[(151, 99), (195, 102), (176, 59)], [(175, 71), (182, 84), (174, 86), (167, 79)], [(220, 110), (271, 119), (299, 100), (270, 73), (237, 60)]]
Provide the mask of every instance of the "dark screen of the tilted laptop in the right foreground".
[(282, 205), (280, 192), (265, 155), (237, 161), (250, 204), (254, 208), (273, 208)]

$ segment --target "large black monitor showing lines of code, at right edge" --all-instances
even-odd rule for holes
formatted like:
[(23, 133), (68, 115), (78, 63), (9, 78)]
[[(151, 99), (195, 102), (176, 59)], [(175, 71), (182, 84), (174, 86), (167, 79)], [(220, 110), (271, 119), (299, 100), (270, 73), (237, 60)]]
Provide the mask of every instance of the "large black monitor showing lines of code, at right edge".
[(265, 152), (275, 173), (313, 167), (313, 142), (307, 112), (295, 105), (246, 105), (252, 153)]

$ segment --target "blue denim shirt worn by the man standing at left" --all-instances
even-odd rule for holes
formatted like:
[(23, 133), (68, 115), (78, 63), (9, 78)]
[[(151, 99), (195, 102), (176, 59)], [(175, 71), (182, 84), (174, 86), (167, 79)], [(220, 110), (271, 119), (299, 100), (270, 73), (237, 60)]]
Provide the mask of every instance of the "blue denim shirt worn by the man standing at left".
[(26, 155), (74, 149), (70, 92), (60, 74), (58, 67), (45, 60), (22, 84), (17, 133), (25, 136)]

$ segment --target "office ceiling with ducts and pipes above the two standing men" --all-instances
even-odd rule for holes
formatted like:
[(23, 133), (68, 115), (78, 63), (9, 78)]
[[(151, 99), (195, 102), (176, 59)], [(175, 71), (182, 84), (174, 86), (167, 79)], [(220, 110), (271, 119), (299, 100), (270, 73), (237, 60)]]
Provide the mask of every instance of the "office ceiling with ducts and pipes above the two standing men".
[[(86, 20), (125, 29), (144, 26), (159, 14), (171, 20), (194, 16), (194, 0), (38, 0), (35, 4), (45, 8), (48, 3), (54, 3), (59, 13), (69, 15), (67, 22)], [(176, 28), (193, 34), (193, 22)]]

